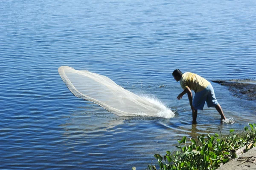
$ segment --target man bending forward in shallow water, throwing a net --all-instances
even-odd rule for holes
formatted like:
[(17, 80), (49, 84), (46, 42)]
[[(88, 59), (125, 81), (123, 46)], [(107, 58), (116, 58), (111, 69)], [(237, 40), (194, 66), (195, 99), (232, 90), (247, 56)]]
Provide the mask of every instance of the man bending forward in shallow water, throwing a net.
[[(185, 72), (183, 74), (179, 69), (175, 69), (172, 75), (176, 81), (180, 81), (180, 86), (184, 90), (178, 95), (177, 99), (180, 100), (183, 95), (188, 94), (189, 104), (192, 109), (193, 124), (196, 123), (198, 109), (203, 110), (205, 101), (208, 107), (216, 108), (221, 115), (221, 120), (226, 119), (221, 105), (218, 104), (215, 98), (213, 87), (209, 81), (192, 72)], [(194, 98), (191, 90), (195, 91)]]

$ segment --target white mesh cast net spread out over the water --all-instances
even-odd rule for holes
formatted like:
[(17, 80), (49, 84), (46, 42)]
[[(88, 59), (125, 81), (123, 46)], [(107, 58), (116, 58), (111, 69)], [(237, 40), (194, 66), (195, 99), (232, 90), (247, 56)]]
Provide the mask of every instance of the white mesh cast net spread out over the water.
[(58, 72), (76, 97), (98, 104), (113, 114), (174, 117), (174, 113), (157, 100), (135, 95), (106, 76), (69, 66), (61, 66)]

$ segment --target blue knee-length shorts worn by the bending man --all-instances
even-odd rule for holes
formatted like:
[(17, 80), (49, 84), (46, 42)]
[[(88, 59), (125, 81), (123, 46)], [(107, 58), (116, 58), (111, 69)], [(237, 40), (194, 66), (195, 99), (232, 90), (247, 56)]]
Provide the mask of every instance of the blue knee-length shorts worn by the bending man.
[(214, 90), (211, 84), (209, 84), (201, 92), (195, 93), (195, 96), (193, 98), (194, 109), (199, 109), (199, 110), (204, 109), (205, 101), (208, 107), (214, 107), (218, 104), (218, 101), (216, 100)]

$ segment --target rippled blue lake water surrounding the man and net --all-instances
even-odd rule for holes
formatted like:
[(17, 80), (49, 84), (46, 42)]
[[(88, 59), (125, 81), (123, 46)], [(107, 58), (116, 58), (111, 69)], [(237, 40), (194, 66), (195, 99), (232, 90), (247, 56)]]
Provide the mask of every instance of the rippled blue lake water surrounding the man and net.
[[(255, 0), (0, 1), (0, 169), (142, 170), (184, 135), (256, 123), (255, 102), (212, 83), (235, 123), (205, 106), (192, 125), (172, 77), (179, 68), (256, 78), (255, 9)], [(175, 117), (119, 117), (76, 98), (58, 75), (64, 65), (153, 96)]]

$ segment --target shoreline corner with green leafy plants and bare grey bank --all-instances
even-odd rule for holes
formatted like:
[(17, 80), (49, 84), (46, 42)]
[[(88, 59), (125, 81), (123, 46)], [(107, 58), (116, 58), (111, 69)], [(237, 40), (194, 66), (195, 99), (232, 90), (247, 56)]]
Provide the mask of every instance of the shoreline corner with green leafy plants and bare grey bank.
[[(180, 151), (165, 156), (155, 154), (161, 170), (212, 169), (212, 170), (256, 170), (256, 124), (244, 127), (245, 134), (239, 135), (230, 130), (227, 136), (199, 135), (198, 140), (187, 138), (179, 141), (176, 147)], [(200, 141), (200, 142), (199, 142)], [(157, 170), (155, 165), (148, 165), (147, 170)]]

